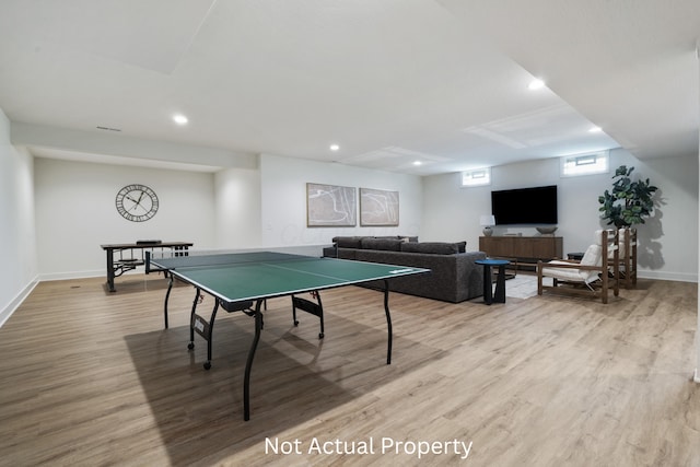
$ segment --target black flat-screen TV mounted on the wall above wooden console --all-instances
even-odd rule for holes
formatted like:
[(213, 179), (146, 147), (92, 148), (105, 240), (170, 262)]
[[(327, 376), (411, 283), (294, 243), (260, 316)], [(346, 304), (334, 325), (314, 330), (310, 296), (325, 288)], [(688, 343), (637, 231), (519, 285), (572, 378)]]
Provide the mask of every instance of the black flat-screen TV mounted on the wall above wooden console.
[(557, 185), (491, 191), (497, 225), (556, 224)]

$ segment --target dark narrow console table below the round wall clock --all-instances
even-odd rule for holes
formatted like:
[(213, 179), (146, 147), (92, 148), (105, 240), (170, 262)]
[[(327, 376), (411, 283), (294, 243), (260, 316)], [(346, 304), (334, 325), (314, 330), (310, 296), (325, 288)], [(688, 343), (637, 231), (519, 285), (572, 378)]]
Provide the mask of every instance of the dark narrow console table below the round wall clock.
[[(109, 292), (116, 292), (114, 278), (136, 269), (137, 266), (145, 265), (143, 250), (171, 249), (173, 256), (185, 256), (192, 243), (188, 242), (160, 242), (140, 241), (136, 243), (117, 243), (110, 245), (100, 245), (107, 253), (107, 287)], [(135, 250), (138, 256), (135, 256)], [(147, 271), (148, 273), (149, 271)]]

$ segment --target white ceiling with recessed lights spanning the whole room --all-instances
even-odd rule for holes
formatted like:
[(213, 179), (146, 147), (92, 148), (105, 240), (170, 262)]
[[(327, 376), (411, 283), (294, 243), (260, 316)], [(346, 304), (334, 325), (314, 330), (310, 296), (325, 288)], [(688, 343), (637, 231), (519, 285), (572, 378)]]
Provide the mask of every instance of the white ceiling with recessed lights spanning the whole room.
[(0, 31), (10, 120), (95, 138), (419, 175), (698, 154), (697, 0), (2, 0)]

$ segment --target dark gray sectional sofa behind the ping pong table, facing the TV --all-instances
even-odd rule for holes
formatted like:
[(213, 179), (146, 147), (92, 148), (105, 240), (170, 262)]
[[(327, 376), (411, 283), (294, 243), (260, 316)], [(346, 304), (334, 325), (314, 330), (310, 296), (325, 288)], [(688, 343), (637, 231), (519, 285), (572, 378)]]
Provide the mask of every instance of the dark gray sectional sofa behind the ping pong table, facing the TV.
[[(430, 273), (389, 281), (394, 292), (444, 302), (464, 302), (483, 294), (483, 267), (474, 261), (483, 252), (466, 252), (466, 242), (418, 242), (416, 237), (338, 236), (324, 256), (358, 261), (428, 268)], [(370, 287), (383, 287), (369, 283)]]

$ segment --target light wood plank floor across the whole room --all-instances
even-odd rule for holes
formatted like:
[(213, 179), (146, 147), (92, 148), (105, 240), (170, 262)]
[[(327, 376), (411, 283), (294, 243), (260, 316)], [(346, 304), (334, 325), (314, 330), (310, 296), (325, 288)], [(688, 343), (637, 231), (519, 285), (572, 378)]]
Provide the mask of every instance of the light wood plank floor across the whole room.
[[(103, 282), (40, 283), (0, 329), (0, 465), (700, 465), (695, 283), (640, 280), (608, 305), (392, 294), (392, 365), (381, 293), (323, 292), (323, 340), (275, 299), (244, 422), (252, 318), (219, 315), (205, 371), (206, 342), (187, 350), (190, 288), (165, 330), (164, 279)], [(302, 454), (270, 448), (295, 441)], [(419, 459), (411, 442), (446, 452)], [(343, 443), (355, 454), (335, 454)]]

